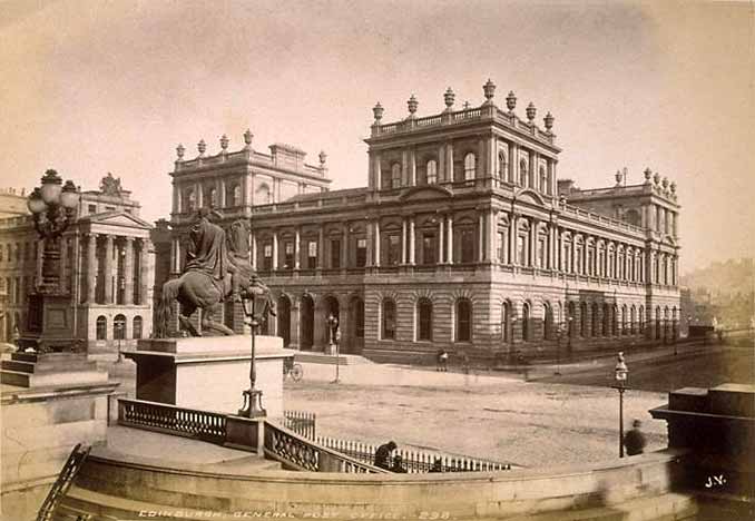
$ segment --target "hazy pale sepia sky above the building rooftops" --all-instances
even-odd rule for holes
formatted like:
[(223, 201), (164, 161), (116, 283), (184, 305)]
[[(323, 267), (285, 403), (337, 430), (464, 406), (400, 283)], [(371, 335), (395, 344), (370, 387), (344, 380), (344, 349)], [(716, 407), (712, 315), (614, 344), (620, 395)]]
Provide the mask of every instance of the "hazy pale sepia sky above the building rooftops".
[(627, 167), (677, 183), (680, 271), (753, 256), (755, 2), (0, 0), (0, 187), (47, 168), (82, 189), (108, 171), (169, 217), (175, 148), (296, 145), (333, 188), (365, 186), (383, 121), (480, 105), (498, 86), (547, 111), (559, 177)]

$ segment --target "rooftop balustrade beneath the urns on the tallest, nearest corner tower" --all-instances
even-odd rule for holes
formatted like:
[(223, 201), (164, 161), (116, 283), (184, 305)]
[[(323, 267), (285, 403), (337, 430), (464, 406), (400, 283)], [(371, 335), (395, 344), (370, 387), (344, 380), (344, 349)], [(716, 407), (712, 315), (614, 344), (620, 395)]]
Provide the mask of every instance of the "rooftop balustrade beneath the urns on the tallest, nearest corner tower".
[(524, 121), (513, 112), (507, 112), (494, 105), (467, 108), (457, 111), (443, 112), (423, 118), (406, 118), (403, 121), (395, 121), (384, 125), (372, 126), (372, 137), (390, 136), (395, 134), (412, 132), (415, 130), (425, 130), (428, 128), (457, 126), (477, 121), (490, 121), (501, 124), (508, 128), (514, 129), (518, 134), (528, 135), (538, 141), (553, 145), (556, 135), (550, 131), (541, 130), (535, 122)]

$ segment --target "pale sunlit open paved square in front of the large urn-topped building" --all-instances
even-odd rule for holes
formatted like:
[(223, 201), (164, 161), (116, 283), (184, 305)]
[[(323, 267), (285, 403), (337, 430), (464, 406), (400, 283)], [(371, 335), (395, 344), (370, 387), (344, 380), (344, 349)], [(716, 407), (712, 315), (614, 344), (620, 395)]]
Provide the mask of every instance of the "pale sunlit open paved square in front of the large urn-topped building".
[[(285, 407), (314, 412), (317, 435), (428, 448), (523, 466), (618, 455), (618, 393), (612, 389), (521, 382), (500, 375), (437, 373), (390, 365), (304, 364), (286, 381)], [(628, 391), (625, 425), (641, 419), (647, 450), (666, 446), (666, 425), (648, 409), (666, 393)]]

